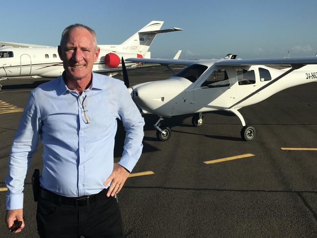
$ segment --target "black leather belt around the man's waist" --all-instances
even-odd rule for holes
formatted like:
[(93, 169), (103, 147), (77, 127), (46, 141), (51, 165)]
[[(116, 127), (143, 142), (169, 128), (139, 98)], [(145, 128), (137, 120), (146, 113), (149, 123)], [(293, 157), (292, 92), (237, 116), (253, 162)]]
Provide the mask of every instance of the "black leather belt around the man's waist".
[(54, 202), (56, 204), (63, 204), (75, 207), (85, 207), (89, 204), (95, 203), (98, 199), (99, 195), (105, 195), (106, 197), (106, 189), (102, 190), (99, 194), (88, 195), (88, 196), (80, 196), (80, 197), (67, 197), (54, 194), (46, 189), (41, 187), (40, 189), (40, 199), (48, 200)]

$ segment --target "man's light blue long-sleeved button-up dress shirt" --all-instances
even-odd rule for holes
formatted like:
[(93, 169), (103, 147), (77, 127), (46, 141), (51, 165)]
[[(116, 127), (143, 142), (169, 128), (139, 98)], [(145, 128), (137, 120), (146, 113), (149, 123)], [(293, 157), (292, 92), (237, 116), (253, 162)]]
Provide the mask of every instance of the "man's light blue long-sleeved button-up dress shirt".
[(68, 197), (107, 188), (110, 183), (103, 184), (113, 170), (116, 118), (126, 130), (119, 164), (131, 172), (142, 152), (144, 119), (122, 81), (92, 73), (91, 87), (82, 95), (68, 89), (63, 77), (32, 90), (10, 152), (6, 208), (23, 207), (24, 179), (39, 137), (43, 188)]

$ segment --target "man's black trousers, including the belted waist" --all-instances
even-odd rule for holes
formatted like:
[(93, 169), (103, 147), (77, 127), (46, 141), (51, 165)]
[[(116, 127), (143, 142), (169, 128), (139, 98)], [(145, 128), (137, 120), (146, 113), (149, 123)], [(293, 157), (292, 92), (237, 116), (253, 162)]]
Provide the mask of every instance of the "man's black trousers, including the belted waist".
[(124, 238), (120, 209), (107, 190), (86, 206), (65, 205), (39, 197), (37, 224), (40, 238)]

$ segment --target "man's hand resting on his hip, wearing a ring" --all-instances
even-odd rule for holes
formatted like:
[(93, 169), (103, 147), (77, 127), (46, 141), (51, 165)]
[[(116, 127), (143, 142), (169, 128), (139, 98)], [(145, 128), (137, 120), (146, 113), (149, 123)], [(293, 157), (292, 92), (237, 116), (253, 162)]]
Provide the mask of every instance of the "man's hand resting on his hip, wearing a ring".
[(104, 186), (106, 186), (110, 181), (112, 181), (107, 196), (114, 196), (115, 194), (118, 194), (126, 182), (129, 174), (130, 173), (124, 167), (118, 163), (114, 163), (113, 171), (104, 183)]

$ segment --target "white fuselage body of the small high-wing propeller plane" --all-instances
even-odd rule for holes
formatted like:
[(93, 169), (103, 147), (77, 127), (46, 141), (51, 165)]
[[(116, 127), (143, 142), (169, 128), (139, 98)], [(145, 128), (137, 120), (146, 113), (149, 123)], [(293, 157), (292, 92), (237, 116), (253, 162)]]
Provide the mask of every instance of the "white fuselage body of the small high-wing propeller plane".
[[(264, 65), (219, 67), (213, 66), (213, 62), (207, 60), (197, 61), (196, 64), (205, 65), (207, 68), (195, 82), (184, 77), (172, 76), (162, 81), (135, 85), (131, 87), (134, 92), (133, 100), (144, 114), (171, 117), (213, 110), (239, 109), (261, 102), (286, 88), (317, 81), (317, 65), (306, 65), (281, 78), (274, 85), (266, 87), (238, 103), (244, 97), (285, 73), (289, 68), (276, 69)], [(237, 72), (241, 68), (247, 69), (248, 72), (254, 71), (252, 83), (242, 84), (241, 81), (239, 83)], [(271, 80), (261, 81), (259, 68), (267, 70), (266, 72), (271, 75)], [(202, 86), (212, 72), (221, 69), (226, 70), (228, 79), (219, 81), (218, 85), (213, 87)], [(315, 73), (316, 76), (314, 77), (313, 74), (313, 77), (309, 78), (308, 75), (312, 73)]]

